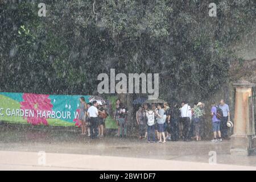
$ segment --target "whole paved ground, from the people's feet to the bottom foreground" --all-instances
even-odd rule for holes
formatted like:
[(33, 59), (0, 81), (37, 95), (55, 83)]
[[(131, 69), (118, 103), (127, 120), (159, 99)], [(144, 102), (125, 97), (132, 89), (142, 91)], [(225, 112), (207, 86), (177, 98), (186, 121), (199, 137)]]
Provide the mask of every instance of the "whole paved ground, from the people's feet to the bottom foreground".
[[(208, 164), (210, 151), (216, 152), (217, 164), (231, 164), (234, 168), (236, 166), (245, 166), (245, 169), (255, 169), (254, 167), (256, 167), (256, 156), (230, 155), (229, 140), (219, 143), (179, 141), (167, 142), (166, 144), (148, 144), (146, 140), (138, 140), (137, 138), (119, 139), (117, 137), (106, 137), (91, 140), (75, 132), (20, 131), (3, 129), (1, 127), (0, 132), (1, 169), (35, 167), (38, 162), (39, 151), (45, 151), (47, 157), (51, 159), (51, 165), (54, 164), (51, 169), (59, 169), (61, 167), (65, 169), (115, 169), (114, 166), (109, 166), (112, 163), (111, 161), (117, 162), (120, 165), (126, 165), (123, 166), (123, 169), (129, 169), (129, 165), (133, 163), (132, 161), (139, 162), (137, 166), (139, 167), (140, 161), (144, 162), (144, 160), (147, 160), (148, 164), (157, 164), (159, 162), (160, 166), (160, 163), (164, 161), (167, 165), (166, 169), (179, 168), (181, 164), (181, 166), (184, 166), (183, 169), (188, 169), (187, 167), (189, 166), (193, 166), (192, 168), (189, 167), (189, 169), (198, 169), (195, 166), (199, 164), (200, 169), (204, 169), (203, 167), (207, 168), (207, 166), (212, 168), (212, 165)], [(30, 156), (35, 157), (32, 162), (30, 161)], [(80, 159), (81, 161), (84, 160), (84, 163), (79, 163)], [(98, 166), (94, 166), (93, 160), (98, 161), (98, 163), (96, 162)], [(105, 160), (108, 162), (107, 166), (105, 164), (102, 165)], [(61, 161), (67, 164), (67, 166), (61, 166)], [(123, 161), (127, 161), (127, 163), (124, 164)], [(68, 164), (69, 162), (72, 163), (73, 168)], [(180, 162), (189, 163), (184, 164)], [(151, 165), (153, 168), (162, 169), (162, 167), (154, 164)], [(47, 169), (47, 167), (39, 168)], [(227, 169), (231, 168), (228, 167)]]

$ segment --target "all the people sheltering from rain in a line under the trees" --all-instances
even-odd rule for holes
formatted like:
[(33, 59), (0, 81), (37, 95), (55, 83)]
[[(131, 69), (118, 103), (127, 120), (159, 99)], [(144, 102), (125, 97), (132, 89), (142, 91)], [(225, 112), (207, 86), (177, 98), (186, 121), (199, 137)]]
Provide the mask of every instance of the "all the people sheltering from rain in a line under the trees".
[[(80, 97), (79, 121), (82, 135), (88, 137), (104, 137), (105, 118), (108, 116), (106, 104), (99, 105), (97, 101), (86, 103)], [(116, 100), (114, 118), (118, 126), (118, 137), (127, 137), (127, 106)], [(181, 106), (174, 103), (143, 104), (136, 112), (136, 121), (139, 126), (139, 138), (147, 138), (148, 143), (166, 143), (167, 140), (196, 141), (201, 140), (201, 129), (205, 121), (205, 109), (202, 102), (195, 103), (193, 107), (188, 102), (181, 102)], [(227, 122), (230, 121), (229, 106), (221, 100), (219, 104), (212, 102), (210, 110), (212, 117), (212, 142), (221, 142), (222, 137), (228, 137)]]

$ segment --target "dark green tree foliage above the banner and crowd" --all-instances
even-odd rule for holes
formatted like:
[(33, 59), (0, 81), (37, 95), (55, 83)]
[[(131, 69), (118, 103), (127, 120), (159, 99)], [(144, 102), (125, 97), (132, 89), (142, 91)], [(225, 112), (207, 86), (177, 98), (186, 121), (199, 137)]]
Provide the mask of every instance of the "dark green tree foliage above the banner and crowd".
[(228, 79), (230, 46), (255, 30), (255, 1), (216, 1), (214, 18), (210, 1), (45, 3), (46, 17), (37, 3), (0, 5), (1, 91), (93, 94), (115, 68), (160, 73), (166, 100), (207, 98)]

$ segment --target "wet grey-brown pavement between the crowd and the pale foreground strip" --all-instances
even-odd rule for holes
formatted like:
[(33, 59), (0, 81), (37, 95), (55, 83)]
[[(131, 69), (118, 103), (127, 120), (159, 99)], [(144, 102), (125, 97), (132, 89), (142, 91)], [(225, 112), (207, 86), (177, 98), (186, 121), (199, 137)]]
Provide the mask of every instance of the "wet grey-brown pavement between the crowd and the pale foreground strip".
[(209, 163), (216, 152), (217, 164), (255, 166), (256, 156), (232, 156), (230, 141), (147, 143), (137, 138), (104, 137), (90, 139), (77, 131), (18, 130), (0, 125), (0, 151), (117, 156)]

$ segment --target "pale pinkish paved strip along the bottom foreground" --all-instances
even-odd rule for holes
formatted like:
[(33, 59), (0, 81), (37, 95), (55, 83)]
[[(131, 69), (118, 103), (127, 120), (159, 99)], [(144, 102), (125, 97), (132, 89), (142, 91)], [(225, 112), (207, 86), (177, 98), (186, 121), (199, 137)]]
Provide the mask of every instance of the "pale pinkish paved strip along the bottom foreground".
[(37, 152), (0, 151), (0, 156), (1, 170), (256, 170), (251, 166), (98, 155), (47, 153), (45, 164), (40, 164)]

